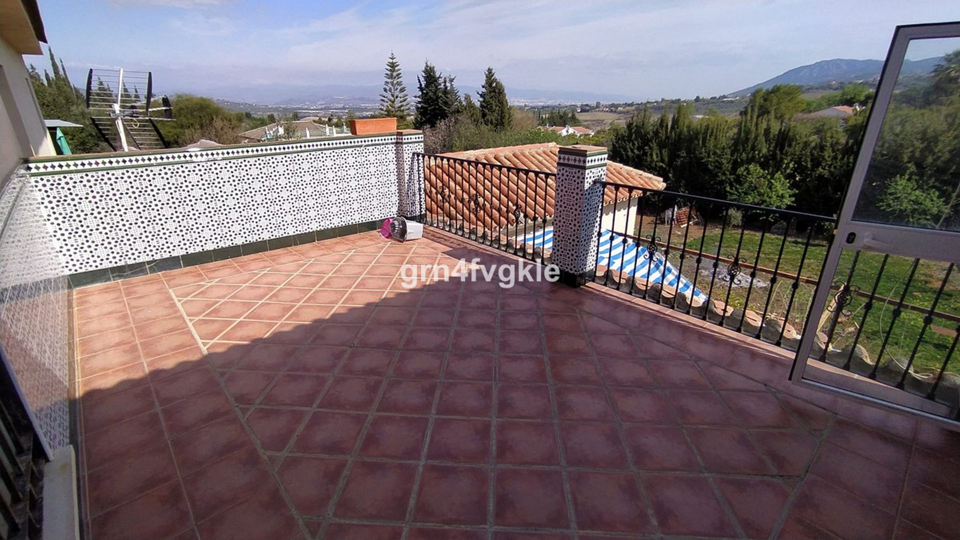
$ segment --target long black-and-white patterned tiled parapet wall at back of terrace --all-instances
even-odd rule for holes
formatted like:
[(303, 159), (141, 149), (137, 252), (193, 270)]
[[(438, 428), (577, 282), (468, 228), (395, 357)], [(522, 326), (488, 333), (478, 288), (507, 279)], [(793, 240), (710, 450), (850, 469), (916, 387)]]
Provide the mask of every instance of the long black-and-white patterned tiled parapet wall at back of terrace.
[(399, 132), (31, 160), (26, 170), (64, 273), (77, 274), (396, 215), (414, 151), (422, 135)]

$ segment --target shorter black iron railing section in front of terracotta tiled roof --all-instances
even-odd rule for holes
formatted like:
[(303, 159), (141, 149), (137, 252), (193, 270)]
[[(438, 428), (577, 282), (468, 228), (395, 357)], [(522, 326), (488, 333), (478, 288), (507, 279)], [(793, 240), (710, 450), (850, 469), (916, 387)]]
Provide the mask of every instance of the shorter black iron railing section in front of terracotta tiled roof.
[(521, 258), (543, 261), (535, 241), (553, 220), (553, 173), (499, 163), (415, 154), (427, 225)]

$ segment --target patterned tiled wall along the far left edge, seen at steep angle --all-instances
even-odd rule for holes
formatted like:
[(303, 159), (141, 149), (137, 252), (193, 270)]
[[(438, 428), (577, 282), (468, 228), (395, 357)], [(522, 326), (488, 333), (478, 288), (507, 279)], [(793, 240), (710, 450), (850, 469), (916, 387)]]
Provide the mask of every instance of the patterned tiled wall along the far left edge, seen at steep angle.
[(25, 173), (0, 179), (0, 347), (51, 450), (69, 444), (67, 279)]

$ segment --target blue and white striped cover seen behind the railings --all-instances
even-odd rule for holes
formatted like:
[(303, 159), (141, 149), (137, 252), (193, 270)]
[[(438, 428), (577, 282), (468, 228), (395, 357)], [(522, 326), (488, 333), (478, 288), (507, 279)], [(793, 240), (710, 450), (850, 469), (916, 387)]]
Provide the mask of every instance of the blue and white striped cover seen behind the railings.
[[(517, 237), (519, 241), (519, 237)], [(633, 276), (637, 282), (666, 283), (666, 286), (677, 286), (681, 294), (688, 294), (693, 290), (693, 296), (701, 301), (707, 302), (707, 295), (700, 289), (693, 289), (693, 283), (680, 275), (677, 268), (666, 261), (660, 253), (655, 254), (651, 263), (647, 257), (646, 246), (637, 246), (633, 240), (623, 241), (620, 234), (612, 233), (606, 229), (600, 232), (600, 257), (597, 258), (597, 264), (607, 266), (613, 270), (620, 271), (628, 276)], [(523, 243), (532, 244), (534, 247), (543, 249), (553, 249), (553, 227), (547, 227), (537, 233), (530, 233), (523, 236)], [(621, 266), (622, 262), (622, 266)]]

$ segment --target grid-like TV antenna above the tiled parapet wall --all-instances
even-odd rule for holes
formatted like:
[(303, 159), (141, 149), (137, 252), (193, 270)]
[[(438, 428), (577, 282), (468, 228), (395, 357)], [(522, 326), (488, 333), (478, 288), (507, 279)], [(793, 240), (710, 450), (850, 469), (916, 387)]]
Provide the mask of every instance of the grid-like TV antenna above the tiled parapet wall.
[(157, 150), (167, 142), (156, 121), (173, 120), (167, 96), (155, 98), (149, 71), (90, 69), (86, 75), (86, 109), (93, 127), (113, 150)]

